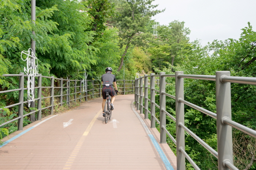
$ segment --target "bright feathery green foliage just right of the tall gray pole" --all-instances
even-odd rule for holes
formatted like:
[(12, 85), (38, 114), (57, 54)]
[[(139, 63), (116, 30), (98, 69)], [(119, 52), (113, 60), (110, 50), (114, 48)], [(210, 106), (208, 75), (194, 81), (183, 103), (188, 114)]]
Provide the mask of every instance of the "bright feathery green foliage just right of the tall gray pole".
[[(89, 70), (91, 64), (96, 63), (94, 54), (97, 49), (89, 45), (94, 33), (86, 31), (91, 19), (85, 11), (79, 11), (86, 7), (78, 1), (69, 0), (38, 0), (37, 4), (43, 11), (37, 13), (40, 16), (38, 22), (42, 23), (38, 25), (38, 33), (46, 21), (49, 20), (47, 24), (52, 26), (51, 30), (45, 27), (42, 36), (36, 36), (38, 58), (49, 64), (50, 73), (57, 77), (77, 77), (83, 69)], [(50, 12), (49, 9), (54, 12)], [(49, 15), (41, 17), (43, 13)]]

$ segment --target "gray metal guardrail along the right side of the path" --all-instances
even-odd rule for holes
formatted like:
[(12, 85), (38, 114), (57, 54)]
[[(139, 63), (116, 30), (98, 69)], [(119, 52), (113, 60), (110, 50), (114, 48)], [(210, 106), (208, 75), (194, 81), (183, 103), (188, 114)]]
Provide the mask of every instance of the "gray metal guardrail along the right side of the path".
[[(148, 77), (150, 78), (150, 87), (148, 87)], [(155, 89), (155, 77), (159, 77), (159, 90)], [(167, 94), (165, 92), (165, 78), (175, 78), (176, 96)], [(217, 114), (208, 111), (195, 104), (184, 100), (184, 78), (200, 79), (216, 81), (216, 107)], [(144, 79), (144, 86), (143, 86)], [(173, 75), (166, 75), (165, 72), (160, 72), (159, 75), (153, 73), (149, 75), (140, 76), (135, 80), (135, 106), (143, 114), (144, 118), (148, 118), (148, 113), (151, 114), (151, 128), (155, 128), (155, 122), (160, 124), (160, 143), (166, 143), (166, 134), (172, 139), (176, 145), (177, 151), (177, 170), (185, 170), (185, 158), (191, 165), (199, 170), (199, 167), (185, 152), (185, 133), (187, 131), (193, 138), (196, 139), (204, 148), (206, 148), (212, 155), (218, 159), (219, 170), (238, 170), (233, 165), (233, 149), (232, 149), (232, 127), (236, 128), (254, 138), (256, 138), (256, 131), (243, 126), (231, 120), (231, 85), (230, 83), (242, 83), (256, 85), (256, 78), (251, 77), (235, 77), (230, 76), (229, 71), (217, 71), (216, 76), (212, 75), (185, 75), (182, 71), (177, 71)], [(144, 96), (143, 96), (144, 89)], [(148, 90), (150, 89), (150, 99), (148, 99)], [(159, 105), (155, 103), (155, 92), (159, 93)], [(166, 111), (166, 96), (176, 100), (176, 118)], [(144, 98), (144, 99), (143, 99)], [(148, 101), (151, 103), (150, 111), (148, 109)], [(144, 106), (143, 106), (144, 102)], [(184, 104), (190, 106), (204, 114), (217, 119), (217, 147), (218, 153), (212, 149), (207, 143), (195, 135), (184, 124)], [(155, 106), (159, 108), (160, 120), (155, 116)], [(176, 122), (176, 140), (166, 130), (166, 115), (170, 116)]]

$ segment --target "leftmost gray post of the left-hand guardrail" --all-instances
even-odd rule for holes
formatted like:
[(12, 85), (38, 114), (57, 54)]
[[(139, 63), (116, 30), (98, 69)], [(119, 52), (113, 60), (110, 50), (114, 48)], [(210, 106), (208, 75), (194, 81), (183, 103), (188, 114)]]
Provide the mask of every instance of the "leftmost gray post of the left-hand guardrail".
[(18, 130), (23, 130), (23, 107), (24, 107), (24, 73), (20, 72), (22, 76), (19, 77), (19, 88), (21, 90), (19, 91), (19, 116), (18, 119)]

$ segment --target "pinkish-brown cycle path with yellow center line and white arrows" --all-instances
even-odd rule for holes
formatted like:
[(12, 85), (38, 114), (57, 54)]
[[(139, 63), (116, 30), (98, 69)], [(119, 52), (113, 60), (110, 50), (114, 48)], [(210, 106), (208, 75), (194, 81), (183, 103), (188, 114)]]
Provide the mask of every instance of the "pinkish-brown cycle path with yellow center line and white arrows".
[[(132, 110), (133, 100), (134, 95), (116, 96), (112, 118), (107, 124), (102, 116), (101, 98), (44, 118), (50, 119), (0, 148), (0, 169), (165, 170), (165, 164)], [(144, 114), (139, 115), (159, 143), (157, 129), (150, 128), (150, 120), (144, 119)], [(71, 124), (64, 128), (63, 123), (70, 120)], [(16, 131), (2, 141), (21, 132)], [(159, 146), (176, 170), (172, 150), (167, 144), (159, 143)]]

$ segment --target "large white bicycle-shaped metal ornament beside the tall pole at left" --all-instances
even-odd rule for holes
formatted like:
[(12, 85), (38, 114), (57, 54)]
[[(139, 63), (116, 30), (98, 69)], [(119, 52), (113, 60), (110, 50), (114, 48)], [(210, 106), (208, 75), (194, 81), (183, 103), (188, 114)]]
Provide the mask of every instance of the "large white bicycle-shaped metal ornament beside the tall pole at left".
[[(23, 60), (22, 54), (26, 55), (26, 59)], [(29, 107), (30, 107), (30, 102), (35, 101), (35, 96), (34, 96), (34, 81), (35, 81), (35, 76), (38, 76), (38, 67), (37, 67), (37, 57), (35, 56), (33, 50), (29, 48), (28, 51), (22, 51), (20, 54), (20, 57), (23, 61), (27, 61), (27, 68), (24, 67), (24, 72), (28, 76), (27, 78), (27, 101), (29, 102)]]

